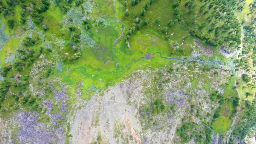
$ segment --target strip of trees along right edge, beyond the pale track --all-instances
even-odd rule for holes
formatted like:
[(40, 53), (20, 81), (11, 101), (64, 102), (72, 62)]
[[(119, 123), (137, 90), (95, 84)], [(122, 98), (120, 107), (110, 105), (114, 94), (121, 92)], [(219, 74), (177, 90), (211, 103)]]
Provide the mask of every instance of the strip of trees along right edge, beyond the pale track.
[[(251, 21), (245, 22), (243, 21), (244, 27), (244, 41), (243, 41), (243, 51), (242, 54), (239, 55), (240, 61), (237, 61), (237, 69), (244, 69), (246, 73), (242, 75), (242, 80), (247, 83), (246, 87), (248, 88), (256, 88), (255, 81), (256, 75), (254, 69), (251, 69), (250, 61), (253, 60), (253, 67), (256, 66), (256, 31), (255, 31), (255, 15), (256, 2), (250, 4), (250, 15)], [(247, 15), (248, 16), (248, 15)], [(244, 56), (242, 56), (244, 55)], [(253, 80), (254, 78), (254, 80)], [(246, 92), (245, 96), (251, 96), (252, 93)], [(237, 102), (234, 101), (234, 104)], [(247, 112), (244, 117), (237, 123), (235, 130), (230, 137), (230, 142), (234, 139), (238, 138), (239, 140), (243, 140), (245, 136), (255, 135), (255, 126), (256, 126), (256, 97), (254, 96), (252, 103), (248, 100), (245, 100), (245, 107), (247, 107)]]

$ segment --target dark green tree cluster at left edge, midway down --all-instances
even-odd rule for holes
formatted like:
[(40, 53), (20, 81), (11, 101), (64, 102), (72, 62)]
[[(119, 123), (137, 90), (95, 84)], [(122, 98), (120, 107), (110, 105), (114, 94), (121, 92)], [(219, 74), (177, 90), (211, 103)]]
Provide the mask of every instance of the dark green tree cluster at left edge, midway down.
[[(18, 49), (18, 57), (13, 62), (13, 65), (8, 64), (1, 70), (0, 74), (4, 77), (7, 76), (8, 71), (11, 69), (17, 74), (8, 76), (5, 81), (0, 82), (0, 107), (6, 99), (13, 97), (16, 102), (21, 102), (24, 106), (29, 106), (34, 110), (40, 109), (39, 104), (35, 101), (38, 97), (32, 97), (26, 92), (29, 85), (29, 75), (21, 76), (19, 72), (23, 71), (25, 67), (33, 64), (42, 51), (43, 48), (40, 48), (38, 52), (31, 48)], [(11, 93), (11, 91), (9, 91), (11, 88), (14, 88), (17, 92)], [(16, 105), (16, 107), (17, 106), (18, 105)], [(5, 110), (6, 109), (2, 109), (2, 111)]]

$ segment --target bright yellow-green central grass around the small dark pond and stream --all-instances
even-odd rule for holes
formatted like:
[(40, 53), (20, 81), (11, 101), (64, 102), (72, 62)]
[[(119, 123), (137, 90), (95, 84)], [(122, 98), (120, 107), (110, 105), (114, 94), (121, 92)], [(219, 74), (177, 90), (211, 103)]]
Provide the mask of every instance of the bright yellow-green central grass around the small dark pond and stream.
[[(121, 11), (120, 3), (117, 1), (115, 3), (116, 10)], [(129, 5), (128, 8), (134, 9), (139, 14), (140, 8), (144, 5), (144, 1), (141, 1), (136, 6)], [(146, 60), (144, 59), (146, 53), (157, 53), (160, 52), (162, 56), (171, 57), (175, 55), (184, 55), (189, 56), (193, 44), (193, 38), (189, 37), (186, 40), (182, 39), (188, 35), (182, 29), (174, 29), (173, 31), (168, 32), (168, 35), (171, 36), (170, 41), (164, 40), (164, 36), (161, 34), (161, 27), (158, 24), (155, 24), (155, 17), (161, 16), (160, 25), (167, 25), (168, 16), (171, 16), (172, 10), (170, 9), (171, 3), (168, 0), (160, 0), (156, 1), (150, 7), (149, 12), (147, 13), (147, 18), (149, 19), (149, 25), (146, 27), (142, 27), (141, 31), (136, 31), (135, 35), (130, 40), (131, 47), (128, 48), (125, 44), (124, 36), (116, 43), (114, 46), (114, 40), (117, 39), (121, 35), (121, 27), (125, 25), (125, 31), (128, 29), (130, 25), (130, 20), (132, 18), (132, 14), (129, 15), (128, 18), (125, 18), (124, 13), (117, 13), (117, 17), (115, 18), (115, 11), (109, 11), (109, 8), (114, 8), (113, 1), (109, 3), (101, 3), (98, 2), (99, 7), (101, 7), (101, 11), (97, 9), (91, 15), (94, 19), (101, 18), (101, 13), (107, 12), (108, 18), (106, 21), (107, 25), (94, 25), (91, 24), (91, 29), (88, 31), (89, 36), (94, 40), (95, 48), (91, 48), (85, 46), (82, 50), (82, 56), (75, 62), (67, 63), (64, 65), (64, 71), (59, 72), (55, 71), (54, 76), (59, 76), (63, 80), (64, 83), (69, 84), (72, 87), (72, 92), (75, 93), (76, 85), (81, 81), (85, 81), (83, 87), (85, 91), (88, 92), (88, 97), (92, 87), (96, 87), (101, 90), (102, 88), (106, 88), (109, 85), (114, 85), (116, 82), (122, 80), (125, 75), (129, 75), (132, 71), (137, 69), (146, 69), (149, 67), (161, 67), (165, 64), (168, 64), (169, 61), (160, 58), (159, 55), (153, 56), (152, 59)], [(160, 8), (159, 5), (164, 4), (166, 6), (165, 9)], [(159, 13), (163, 13), (163, 11), (169, 11), (165, 13), (165, 15), (160, 15)], [(54, 10), (55, 11), (55, 10)], [(45, 16), (48, 15), (49, 18), (45, 19), (45, 24), (51, 26), (54, 25), (54, 21), (59, 21), (61, 19), (61, 15), (58, 14), (57, 18), (51, 19), (51, 11), (47, 11), (44, 13)], [(154, 11), (154, 13), (153, 13)], [(156, 13), (155, 13), (156, 11)], [(122, 21), (123, 24), (116, 22), (115, 19), (118, 20), (123, 16), (123, 19), (127, 19), (127, 21)], [(105, 24), (105, 22), (103, 23)], [(152, 26), (151, 26), (152, 24)], [(59, 33), (53, 30), (57, 29), (58, 24), (55, 24), (54, 27), (49, 27), (49, 36), (51, 33)], [(178, 25), (177, 25), (178, 26)], [(151, 28), (150, 28), (151, 27)], [(171, 35), (174, 33), (174, 35)], [(58, 37), (58, 35), (56, 35)], [(48, 39), (47, 39), (48, 40)], [(50, 39), (49, 39), (50, 40)], [(179, 41), (176, 41), (179, 40)], [(182, 53), (172, 46), (173, 43), (179, 43), (179, 48), (184, 49), (185, 52)], [(183, 43), (183, 45), (181, 45)], [(141, 59), (142, 58), (142, 59)]]

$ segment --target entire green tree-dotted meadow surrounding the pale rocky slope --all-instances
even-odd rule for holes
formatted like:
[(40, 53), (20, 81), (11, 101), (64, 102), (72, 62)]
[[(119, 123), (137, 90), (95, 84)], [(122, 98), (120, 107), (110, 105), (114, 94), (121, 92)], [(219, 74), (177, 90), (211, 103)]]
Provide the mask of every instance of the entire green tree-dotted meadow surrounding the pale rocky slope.
[[(1, 33), (8, 35), (6, 43), (0, 37), (0, 112), (5, 117), (19, 109), (41, 112), (43, 101), (56, 102), (54, 92), (63, 85), (72, 105), (80, 87), (80, 97), (90, 100), (137, 70), (184, 64), (188, 67), (170, 70), (188, 77), (180, 89), (207, 91), (211, 112), (202, 117), (198, 108), (195, 119), (182, 118), (179, 140), (192, 139), (197, 119), (207, 123), (203, 132), (225, 134), (244, 120), (254, 100), (255, 5), (254, 0), (0, 0), (0, 26), (6, 25)], [(228, 71), (233, 73), (223, 76)], [(221, 94), (211, 83), (219, 76), (229, 77), (218, 85)], [(154, 108), (162, 104), (163, 110), (159, 99)], [(192, 105), (184, 110), (191, 115)], [(42, 114), (40, 121), (49, 117)]]

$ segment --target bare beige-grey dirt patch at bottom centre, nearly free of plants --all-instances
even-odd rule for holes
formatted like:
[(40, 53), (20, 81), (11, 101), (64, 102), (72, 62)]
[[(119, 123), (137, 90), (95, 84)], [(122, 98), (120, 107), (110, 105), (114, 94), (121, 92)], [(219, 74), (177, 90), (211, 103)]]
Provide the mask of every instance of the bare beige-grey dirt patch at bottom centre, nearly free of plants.
[(72, 142), (93, 143), (97, 141), (98, 133), (101, 133), (109, 143), (116, 143), (117, 137), (114, 134), (116, 121), (125, 123), (125, 131), (129, 131), (127, 136), (133, 136), (133, 142), (141, 141), (140, 136), (137, 135), (141, 132), (136, 117), (137, 110), (134, 105), (127, 103), (127, 96), (126, 88), (121, 88), (120, 85), (109, 88), (104, 96), (93, 96), (86, 107), (75, 114), (71, 129)]

